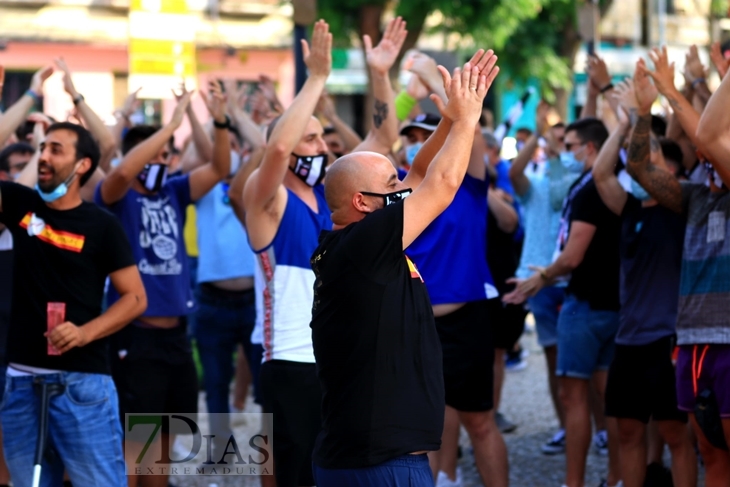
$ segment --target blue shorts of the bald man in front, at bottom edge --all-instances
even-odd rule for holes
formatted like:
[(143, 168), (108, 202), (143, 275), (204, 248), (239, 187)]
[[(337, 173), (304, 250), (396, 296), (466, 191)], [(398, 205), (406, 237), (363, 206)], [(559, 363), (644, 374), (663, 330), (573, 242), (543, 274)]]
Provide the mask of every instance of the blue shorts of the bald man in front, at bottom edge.
[(313, 464), (317, 487), (433, 487), (428, 456), (403, 455), (374, 467), (330, 470)]

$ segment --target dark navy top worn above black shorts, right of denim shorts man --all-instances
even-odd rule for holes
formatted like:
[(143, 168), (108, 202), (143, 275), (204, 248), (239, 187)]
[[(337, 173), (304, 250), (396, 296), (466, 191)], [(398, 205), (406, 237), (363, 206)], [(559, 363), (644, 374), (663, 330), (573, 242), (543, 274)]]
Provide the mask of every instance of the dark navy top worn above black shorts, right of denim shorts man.
[(642, 208), (629, 195), (621, 213), (620, 345), (647, 345), (673, 335), (685, 220), (660, 205)]

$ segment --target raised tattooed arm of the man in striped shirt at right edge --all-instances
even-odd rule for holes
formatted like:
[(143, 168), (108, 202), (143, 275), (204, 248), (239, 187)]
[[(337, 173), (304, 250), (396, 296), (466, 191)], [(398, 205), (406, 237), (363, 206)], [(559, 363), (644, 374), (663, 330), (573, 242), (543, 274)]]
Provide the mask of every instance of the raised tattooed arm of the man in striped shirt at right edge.
[(682, 213), (682, 187), (672, 173), (651, 162), (652, 152), (661, 147), (651, 135), (651, 114), (642, 114), (631, 135), (626, 169), (660, 205)]

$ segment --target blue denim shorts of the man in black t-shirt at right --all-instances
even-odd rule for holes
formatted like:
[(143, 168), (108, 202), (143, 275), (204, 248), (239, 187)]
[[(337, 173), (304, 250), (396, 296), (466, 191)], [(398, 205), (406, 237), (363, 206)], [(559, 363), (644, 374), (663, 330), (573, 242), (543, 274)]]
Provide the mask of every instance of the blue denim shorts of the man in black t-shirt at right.
[(568, 294), (558, 318), (557, 376), (590, 379), (608, 370), (616, 346), (618, 311), (591, 309), (587, 301)]

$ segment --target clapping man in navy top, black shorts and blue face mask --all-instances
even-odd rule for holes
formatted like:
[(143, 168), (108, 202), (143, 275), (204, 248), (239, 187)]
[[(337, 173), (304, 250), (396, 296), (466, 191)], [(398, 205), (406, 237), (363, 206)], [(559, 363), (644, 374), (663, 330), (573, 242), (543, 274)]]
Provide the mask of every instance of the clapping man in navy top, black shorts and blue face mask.
[[(616, 90), (622, 106), (635, 110), (633, 84), (622, 82)], [(619, 124), (593, 167), (601, 199), (622, 221), (621, 314), (606, 386), (606, 415), (618, 421), (620, 470), (626, 486), (644, 481), (650, 418), (671, 450), (674, 485), (689, 486), (696, 483), (697, 459), (687, 414), (677, 408), (672, 365), (685, 223), (635, 179), (631, 193), (619, 183), (615, 166), (630, 127), (628, 115), (621, 110)], [(653, 140), (650, 158), (676, 177), (682, 150), (669, 140)]]

